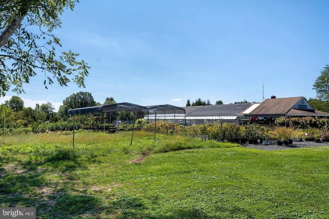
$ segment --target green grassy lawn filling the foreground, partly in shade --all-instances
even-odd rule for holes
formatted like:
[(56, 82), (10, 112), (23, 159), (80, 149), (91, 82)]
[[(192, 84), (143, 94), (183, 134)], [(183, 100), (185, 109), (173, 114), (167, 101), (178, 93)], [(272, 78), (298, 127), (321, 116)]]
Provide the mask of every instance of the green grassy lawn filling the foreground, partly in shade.
[(38, 218), (329, 218), (328, 146), (157, 136), (137, 132), (130, 146), (131, 132), (79, 132), (74, 149), (69, 134), (1, 139), (0, 206)]

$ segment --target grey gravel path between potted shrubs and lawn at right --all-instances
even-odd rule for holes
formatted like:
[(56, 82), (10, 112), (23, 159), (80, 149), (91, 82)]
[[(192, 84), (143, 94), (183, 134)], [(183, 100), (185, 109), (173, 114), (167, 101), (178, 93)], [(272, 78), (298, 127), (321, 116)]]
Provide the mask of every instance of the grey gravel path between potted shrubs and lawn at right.
[(294, 149), (294, 148), (310, 148), (310, 147), (319, 147), (319, 146), (328, 146), (329, 143), (315, 143), (315, 142), (293, 142), (292, 145), (282, 145), (278, 146), (278, 144), (273, 144), (273, 145), (252, 145), (252, 144), (241, 144), (242, 147), (245, 148), (255, 148), (255, 149), (260, 149), (264, 151), (277, 151), (277, 150), (285, 150), (285, 149)]

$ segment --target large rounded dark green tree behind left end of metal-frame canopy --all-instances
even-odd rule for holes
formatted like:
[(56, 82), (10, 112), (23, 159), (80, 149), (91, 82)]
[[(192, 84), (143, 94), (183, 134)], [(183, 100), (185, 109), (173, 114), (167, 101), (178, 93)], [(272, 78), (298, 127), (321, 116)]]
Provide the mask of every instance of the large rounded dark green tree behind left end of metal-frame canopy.
[(64, 117), (67, 114), (67, 110), (76, 109), (82, 107), (92, 107), (97, 106), (96, 101), (92, 93), (89, 92), (78, 92), (66, 97), (63, 101), (63, 105), (60, 106), (58, 110), (58, 115)]

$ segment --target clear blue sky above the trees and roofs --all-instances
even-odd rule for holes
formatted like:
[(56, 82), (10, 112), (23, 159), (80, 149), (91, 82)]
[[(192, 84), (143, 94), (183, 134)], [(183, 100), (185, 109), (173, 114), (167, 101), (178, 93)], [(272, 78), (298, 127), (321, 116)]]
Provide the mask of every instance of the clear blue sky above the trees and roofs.
[[(328, 1), (80, 1), (56, 30), (91, 67), (86, 88), (24, 86), (26, 106), (79, 91), (103, 103), (185, 106), (190, 98), (315, 97), (329, 64)], [(8, 92), (0, 102), (15, 95)], [(175, 101), (174, 101), (174, 100)], [(177, 100), (181, 99), (181, 101)]]

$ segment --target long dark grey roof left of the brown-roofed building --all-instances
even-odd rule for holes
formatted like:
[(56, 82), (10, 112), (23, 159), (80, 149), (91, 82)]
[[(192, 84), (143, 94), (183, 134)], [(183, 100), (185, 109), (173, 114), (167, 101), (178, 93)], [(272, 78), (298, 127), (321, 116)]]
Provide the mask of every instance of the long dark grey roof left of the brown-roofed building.
[(237, 116), (246, 110), (251, 103), (223, 104), (195, 107), (182, 107), (186, 110), (186, 116)]

